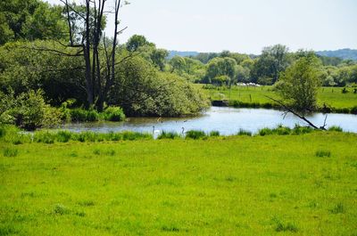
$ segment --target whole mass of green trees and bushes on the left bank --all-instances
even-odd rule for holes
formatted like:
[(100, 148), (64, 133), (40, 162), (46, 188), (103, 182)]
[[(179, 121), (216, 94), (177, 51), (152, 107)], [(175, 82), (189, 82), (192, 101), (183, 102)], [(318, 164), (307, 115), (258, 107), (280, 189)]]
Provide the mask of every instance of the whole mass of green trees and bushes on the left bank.
[[(97, 29), (100, 38), (94, 38), (94, 28), (89, 28), (87, 38), (86, 29), (80, 28), (81, 20), (76, 18), (76, 13), (81, 16), (86, 8), (76, 4), (69, 8), (71, 38), (66, 24), (69, 12), (63, 6), (39, 0), (0, 3), (0, 123), (34, 129), (79, 116), (80, 112), (65, 109), (93, 111), (82, 114), (80, 120), (93, 121), (103, 117), (107, 108), (121, 108), (127, 116), (176, 117), (208, 107), (208, 100), (195, 86), (165, 69), (167, 51), (156, 48), (145, 37), (134, 36), (112, 47), (115, 58), (108, 64), (113, 39), (104, 37), (105, 17)], [(94, 20), (95, 12), (90, 9), (89, 14), (93, 14), (89, 20)], [(91, 27), (94, 23), (88, 22)], [(87, 99), (84, 49), (69, 45), (70, 39), (88, 41), (87, 59), (95, 61), (92, 103)], [(108, 68), (114, 68), (113, 73)], [(108, 77), (108, 73), (114, 77), (97, 79)]]

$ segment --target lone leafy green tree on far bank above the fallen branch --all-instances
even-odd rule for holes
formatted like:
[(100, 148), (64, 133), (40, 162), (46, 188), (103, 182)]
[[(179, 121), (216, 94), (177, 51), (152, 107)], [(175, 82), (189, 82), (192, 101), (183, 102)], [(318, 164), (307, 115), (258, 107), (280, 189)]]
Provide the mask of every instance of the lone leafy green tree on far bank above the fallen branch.
[(278, 92), (295, 112), (302, 115), (317, 107), (320, 61), (315, 56), (302, 57), (282, 73)]

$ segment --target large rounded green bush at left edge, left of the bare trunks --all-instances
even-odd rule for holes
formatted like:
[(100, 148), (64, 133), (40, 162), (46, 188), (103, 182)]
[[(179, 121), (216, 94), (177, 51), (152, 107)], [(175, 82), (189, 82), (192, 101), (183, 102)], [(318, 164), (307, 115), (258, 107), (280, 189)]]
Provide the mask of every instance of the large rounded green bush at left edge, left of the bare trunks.
[(75, 99), (78, 105), (86, 102), (83, 87), (83, 63), (78, 57), (61, 56), (50, 50), (64, 50), (51, 41), (9, 43), (0, 47), (0, 90), (13, 90), (15, 95), (42, 89), (54, 106)]

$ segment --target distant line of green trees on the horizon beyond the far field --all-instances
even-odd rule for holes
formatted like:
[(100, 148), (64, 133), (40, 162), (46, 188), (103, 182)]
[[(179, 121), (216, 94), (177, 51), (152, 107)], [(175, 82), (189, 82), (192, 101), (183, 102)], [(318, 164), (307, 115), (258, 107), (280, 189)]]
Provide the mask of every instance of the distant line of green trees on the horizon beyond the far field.
[[(307, 54), (289, 52), (285, 45), (265, 47), (260, 56), (242, 53), (199, 53), (196, 56), (175, 56), (169, 61), (170, 70), (196, 83), (234, 85), (255, 83), (273, 85), (280, 74)], [(313, 53), (315, 54), (315, 53)], [(319, 58), (320, 81), (324, 86), (345, 86), (357, 83), (357, 63), (336, 57)]]

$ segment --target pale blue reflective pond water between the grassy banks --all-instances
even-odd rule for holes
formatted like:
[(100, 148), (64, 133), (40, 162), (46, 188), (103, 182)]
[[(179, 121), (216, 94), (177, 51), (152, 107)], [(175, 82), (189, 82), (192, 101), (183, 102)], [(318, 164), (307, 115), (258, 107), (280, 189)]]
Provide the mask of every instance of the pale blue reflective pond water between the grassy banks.
[[(315, 113), (309, 116), (316, 126), (322, 126), (325, 115)], [(306, 126), (305, 122), (288, 114), (284, 117), (279, 110), (267, 109), (236, 109), (228, 107), (211, 107), (195, 118), (129, 118), (125, 122), (95, 122), (67, 124), (62, 128), (74, 132), (95, 131), (95, 132), (118, 132), (131, 130), (144, 133), (159, 134), (164, 131), (182, 133), (182, 130), (203, 130), (211, 132), (220, 131), (220, 134), (237, 134), (239, 129), (244, 129), (256, 133), (264, 127), (274, 128), (282, 124), (283, 126), (294, 127), (295, 124)], [(341, 126), (344, 131), (357, 133), (357, 116), (350, 114), (328, 114), (328, 126)]]

